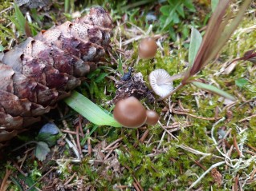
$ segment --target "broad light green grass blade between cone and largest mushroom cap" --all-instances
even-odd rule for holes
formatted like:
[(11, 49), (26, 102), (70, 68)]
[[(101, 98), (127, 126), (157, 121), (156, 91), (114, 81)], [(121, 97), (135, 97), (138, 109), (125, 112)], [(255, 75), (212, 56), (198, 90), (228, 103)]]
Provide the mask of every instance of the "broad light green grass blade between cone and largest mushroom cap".
[(71, 96), (67, 97), (64, 101), (72, 109), (83, 115), (83, 117), (87, 118), (88, 121), (91, 121), (91, 123), (94, 123), (95, 125), (122, 126), (112, 116), (105, 113), (103, 109), (100, 109), (98, 105), (95, 105), (95, 103), (87, 97), (84, 97), (76, 91), (73, 91)]

